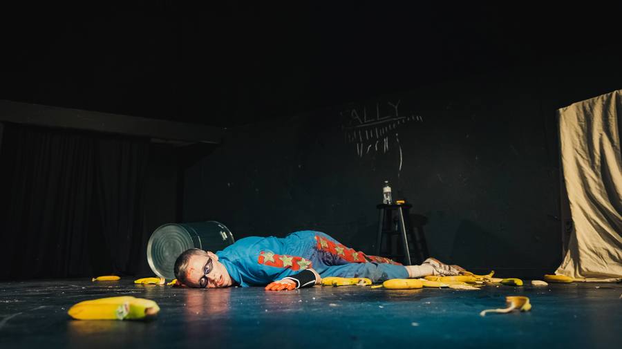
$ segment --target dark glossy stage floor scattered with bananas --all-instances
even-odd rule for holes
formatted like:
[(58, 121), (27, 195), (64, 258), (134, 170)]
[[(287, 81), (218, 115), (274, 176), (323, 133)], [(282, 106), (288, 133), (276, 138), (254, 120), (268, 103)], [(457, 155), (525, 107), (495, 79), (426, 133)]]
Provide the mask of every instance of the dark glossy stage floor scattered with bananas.
[[(129, 279), (0, 283), (0, 348), (615, 348), (622, 343), (621, 293), (620, 284), (585, 283), (293, 292), (135, 286)], [(66, 314), (78, 301), (115, 295), (157, 301), (158, 319), (75, 321)], [(533, 309), (480, 317), (507, 295), (529, 296)]]

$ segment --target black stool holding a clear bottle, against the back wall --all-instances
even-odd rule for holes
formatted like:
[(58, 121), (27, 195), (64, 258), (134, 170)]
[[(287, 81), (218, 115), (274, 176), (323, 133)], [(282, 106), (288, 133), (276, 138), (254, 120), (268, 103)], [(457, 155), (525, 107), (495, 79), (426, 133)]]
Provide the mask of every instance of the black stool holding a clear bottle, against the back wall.
[[(376, 206), (379, 209), (378, 218), (378, 239), (376, 244), (376, 254), (388, 258), (400, 258), (404, 265), (413, 265), (417, 261), (422, 263), (428, 258), (428, 246), (424, 235), (423, 226), (428, 218), (418, 214), (409, 214), (408, 210), (413, 207), (410, 204)], [(417, 232), (413, 231), (417, 228)], [(382, 237), (386, 236), (386, 247), (388, 251), (382, 252)], [(402, 254), (392, 251), (391, 238), (398, 236), (402, 241)], [(412, 248), (411, 248), (412, 246)]]

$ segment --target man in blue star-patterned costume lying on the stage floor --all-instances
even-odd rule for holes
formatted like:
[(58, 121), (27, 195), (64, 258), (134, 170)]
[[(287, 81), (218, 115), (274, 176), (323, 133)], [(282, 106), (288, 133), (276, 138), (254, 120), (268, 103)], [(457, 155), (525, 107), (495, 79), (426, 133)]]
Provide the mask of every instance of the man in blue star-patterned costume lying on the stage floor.
[(175, 262), (174, 272), (189, 287), (265, 286), (266, 290), (294, 290), (321, 283), (321, 278), (388, 279), (428, 275), (458, 275), (457, 265), (428, 258), (422, 265), (401, 265), (388, 258), (368, 256), (341, 245), (321, 232), (305, 230), (285, 238), (242, 238), (216, 254), (188, 249)]

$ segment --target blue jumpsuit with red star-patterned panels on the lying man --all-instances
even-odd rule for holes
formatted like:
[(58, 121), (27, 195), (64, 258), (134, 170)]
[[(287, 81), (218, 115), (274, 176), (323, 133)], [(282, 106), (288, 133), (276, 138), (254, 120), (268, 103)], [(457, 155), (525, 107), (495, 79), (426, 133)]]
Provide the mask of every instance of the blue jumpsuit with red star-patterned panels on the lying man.
[(264, 286), (313, 268), (321, 277), (365, 277), (374, 283), (406, 279), (406, 268), (388, 258), (367, 256), (322, 232), (305, 230), (285, 238), (242, 238), (216, 252), (229, 275), (243, 287)]

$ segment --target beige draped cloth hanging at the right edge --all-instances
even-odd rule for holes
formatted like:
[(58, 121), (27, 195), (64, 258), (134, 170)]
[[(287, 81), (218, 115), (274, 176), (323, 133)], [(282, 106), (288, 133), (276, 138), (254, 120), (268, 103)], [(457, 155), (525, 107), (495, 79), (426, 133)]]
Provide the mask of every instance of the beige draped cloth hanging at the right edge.
[(621, 115), (622, 90), (558, 110), (563, 187), (572, 225), (564, 227), (570, 235), (556, 274), (622, 277)]

